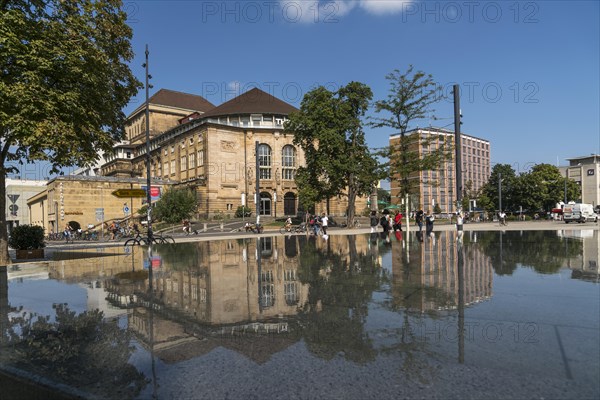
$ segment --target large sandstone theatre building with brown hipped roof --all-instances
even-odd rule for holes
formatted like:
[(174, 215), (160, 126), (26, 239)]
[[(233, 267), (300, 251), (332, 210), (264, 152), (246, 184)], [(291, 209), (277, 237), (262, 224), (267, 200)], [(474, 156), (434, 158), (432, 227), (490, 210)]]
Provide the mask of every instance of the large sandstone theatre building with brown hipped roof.
[[(304, 154), (284, 129), (296, 110), (257, 88), (216, 107), (201, 96), (161, 89), (149, 99), (151, 177), (193, 190), (198, 216), (210, 218), (233, 217), (244, 202), (255, 215), (258, 175), (260, 215), (296, 215), (294, 178)], [(105, 156), (100, 175), (146, 177), (145, 119), (144, 104), (128, 117), (126, 140)], [(346, 204), (331, 199), (330, 213), (343, 215)], [(358, 199), (357, 212), (365, 207), (366, 199)], [(316, 208), (325, 211), (324, 204)]]

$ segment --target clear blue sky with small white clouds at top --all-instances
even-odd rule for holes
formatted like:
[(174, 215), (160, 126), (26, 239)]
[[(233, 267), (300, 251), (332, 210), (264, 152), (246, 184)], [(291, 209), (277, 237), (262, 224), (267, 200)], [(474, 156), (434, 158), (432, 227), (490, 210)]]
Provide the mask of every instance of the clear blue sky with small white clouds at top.
[[(448, 94), (437, 121), (453, 129), (451, 87), (461, 85), (462, 131), (487, 139), (492, 164), (600, 153), (598, 1), (131, 1), (140, 80), (150, 48), (151, 94), (168, 88), (214, 104), (257, 86), (299, 106), (316, 85), (350, 81), (387, 96), (394, 69), (432, 74)], [(144, 101), (132, 101), (130, 112)], [(366, 129), (372, 147), (387, 129)]]

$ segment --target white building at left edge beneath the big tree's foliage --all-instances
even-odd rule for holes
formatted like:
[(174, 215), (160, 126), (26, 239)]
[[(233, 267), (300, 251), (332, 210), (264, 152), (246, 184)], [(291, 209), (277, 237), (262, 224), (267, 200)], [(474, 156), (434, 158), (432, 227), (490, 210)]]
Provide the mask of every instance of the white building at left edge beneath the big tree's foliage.
[(8, 233), (15, 226), (29, 224), (27, 199), (46, 189), (46, 181), (6, 179), (6, 226)]

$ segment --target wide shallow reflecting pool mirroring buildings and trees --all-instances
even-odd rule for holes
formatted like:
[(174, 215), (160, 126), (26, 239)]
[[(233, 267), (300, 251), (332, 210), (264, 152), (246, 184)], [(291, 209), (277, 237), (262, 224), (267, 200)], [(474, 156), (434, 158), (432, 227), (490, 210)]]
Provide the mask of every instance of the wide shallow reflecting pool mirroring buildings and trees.
[(89, 398), (598, 398), (598, 231), (275, 236), (0, 273), (0, 368)]

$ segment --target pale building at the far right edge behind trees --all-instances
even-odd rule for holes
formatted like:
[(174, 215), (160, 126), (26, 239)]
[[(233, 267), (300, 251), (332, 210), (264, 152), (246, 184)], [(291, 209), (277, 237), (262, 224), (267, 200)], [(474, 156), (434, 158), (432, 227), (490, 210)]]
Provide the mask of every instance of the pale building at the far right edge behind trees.
[[(581, 202), (600, 205), (600, 155), (567, 158), (569, 165), (559, 167), (562, 176), (581, 187)], [(571, 199), (567, 199), (571, 200)]]

